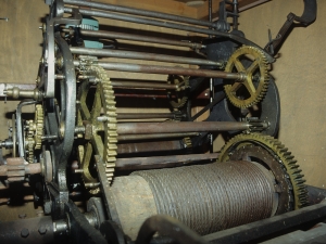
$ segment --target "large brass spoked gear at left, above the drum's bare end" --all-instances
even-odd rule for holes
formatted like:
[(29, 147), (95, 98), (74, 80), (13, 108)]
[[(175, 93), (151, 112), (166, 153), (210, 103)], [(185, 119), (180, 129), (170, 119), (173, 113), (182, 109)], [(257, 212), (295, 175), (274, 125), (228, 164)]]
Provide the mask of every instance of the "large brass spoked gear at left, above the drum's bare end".
[[(116, 160), (116, 107), (113, 87), (105, 70), (97, 65), (86, 67), (86, 75), (92, 77), (95, 84), (88, 80), (84, 81), (79, 87), (79, 111), (78, 126), (87, 121), (91, 132), (88, 133), (88, 142), (78, 146), (78, 155), (80, 167), (83, 168), (83, 180), (85, 183), (98, 182), (93, 170), (93, 155), (100, 155), (105, 165), (105, 174), (108, 181), (113, 179), (113, 172)], [(98, 117), (106, 117), (105, 121), (98, 121)], [(103, 133), (102, 133), (103, 132)], [(91, 194), (97, 194), (100, 189), (90, 188)]]

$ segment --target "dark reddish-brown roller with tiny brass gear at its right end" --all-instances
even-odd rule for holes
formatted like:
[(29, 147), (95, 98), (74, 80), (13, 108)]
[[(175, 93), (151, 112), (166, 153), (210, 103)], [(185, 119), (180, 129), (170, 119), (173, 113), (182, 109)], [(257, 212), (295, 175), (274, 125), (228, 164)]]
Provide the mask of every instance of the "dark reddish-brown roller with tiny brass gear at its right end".
[(117, 144), (116, 152), (118, 154), (128, 154), (128, 153), (174, 151), (174, 150), (181, 150), (181, 149), (184, 149), (184, 145), (180, 143), (179, 140), (175, 140), (175, 141), (156, 141), (156, 142)]

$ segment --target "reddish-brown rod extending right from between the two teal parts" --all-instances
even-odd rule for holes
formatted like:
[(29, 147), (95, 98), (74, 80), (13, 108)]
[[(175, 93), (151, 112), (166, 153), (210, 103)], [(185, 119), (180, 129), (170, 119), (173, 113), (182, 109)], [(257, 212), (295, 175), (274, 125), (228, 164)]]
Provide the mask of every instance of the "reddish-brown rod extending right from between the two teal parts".
[(171, 40), (166, 38), (149, 37), (149, 36), (141, 36), (135, 34), (103, 31), (103, 30), (86, 30), (86, 29), (80, 29), (80, 34), (89, 37), (131, 40), (131, 41), (149, 42), (149, 43), (187, 47), (191, 49), (205, 48), (205, 46), (201, 43), (189, 42), (189, 41), (177, 41), (177, 40)]

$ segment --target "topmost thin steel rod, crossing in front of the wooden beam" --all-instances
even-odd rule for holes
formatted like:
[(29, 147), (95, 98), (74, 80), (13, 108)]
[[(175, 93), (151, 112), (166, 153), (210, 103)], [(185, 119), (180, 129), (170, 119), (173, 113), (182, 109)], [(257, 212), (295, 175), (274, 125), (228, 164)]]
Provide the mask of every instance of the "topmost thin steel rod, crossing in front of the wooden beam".
[(100, 2), (83, 2), (77, 0), (64, 0), (63, 2), (72, 5), (82, 5), (82, 7), (92, 8), (92, 9), (112, 11), (112, 12), (127, 13), (127, 14), (134, 14), (134, 15), (147, 16), (147, 17), (163, 18), (163, 20), (168, 20), (174, 22), (206, 26), (206, 27), (214, 27), (214, 23), (211, 22), (184, 17), (184, 16), (178, 16), (173, 14), (166, 14), (156, 11), (139, 10), (139, 9), (134, 9), (128, 7), (113, 5), (113, 4), (100, 3)]

